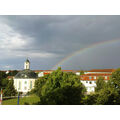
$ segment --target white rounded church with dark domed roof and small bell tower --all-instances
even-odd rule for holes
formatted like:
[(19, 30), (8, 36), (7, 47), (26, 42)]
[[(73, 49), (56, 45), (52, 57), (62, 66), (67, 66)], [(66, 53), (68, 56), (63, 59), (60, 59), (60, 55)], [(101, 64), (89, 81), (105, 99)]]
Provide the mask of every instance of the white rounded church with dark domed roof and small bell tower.
[(34, 88), (37, 74), (30, 70), (30, 61), (27, 59), (24, 63), (24, 70), (18, 72), (14, 77), (14, 86), (18, 92), (27, 93)]

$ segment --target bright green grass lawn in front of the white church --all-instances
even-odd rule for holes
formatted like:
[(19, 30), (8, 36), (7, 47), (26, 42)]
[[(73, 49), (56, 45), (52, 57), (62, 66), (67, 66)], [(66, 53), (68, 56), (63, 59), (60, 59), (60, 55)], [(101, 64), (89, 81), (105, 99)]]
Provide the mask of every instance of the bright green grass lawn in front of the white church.
[[(25, 102), (32, 105), (33, 103), (36, 103), (40, 101), (40, 98), (36, 95), (31, 95), (29, 97), (23, 97), (19, 99), (19, 105), (24, 105)], [(17, 105), (17, 98), (9, 99), (9, 100), (3, 100), (2, 105)]]

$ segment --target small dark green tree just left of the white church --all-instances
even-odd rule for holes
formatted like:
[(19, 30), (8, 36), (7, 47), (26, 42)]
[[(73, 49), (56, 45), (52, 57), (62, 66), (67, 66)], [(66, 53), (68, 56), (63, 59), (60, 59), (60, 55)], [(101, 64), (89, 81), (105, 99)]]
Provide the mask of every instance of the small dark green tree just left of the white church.
[(3, 90), (4, 96), (15, 96), (17, 91), (14, 88), (14, 81), (10, 80), (7, 84), (7, 87)]

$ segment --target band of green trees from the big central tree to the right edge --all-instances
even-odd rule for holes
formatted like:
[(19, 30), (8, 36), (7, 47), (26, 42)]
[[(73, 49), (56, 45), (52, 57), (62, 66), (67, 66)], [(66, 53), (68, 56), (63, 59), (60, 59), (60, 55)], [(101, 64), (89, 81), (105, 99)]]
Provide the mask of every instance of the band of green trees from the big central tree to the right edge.
[(53, 73), (39, 78), (32, 93), (40, 97), (42, 105), (118, 105), (120, 104), (120, 69), (105, 82), (100, 77), (95, 93), (86, 94), (79, 76), (65, 73), (58, 68)]

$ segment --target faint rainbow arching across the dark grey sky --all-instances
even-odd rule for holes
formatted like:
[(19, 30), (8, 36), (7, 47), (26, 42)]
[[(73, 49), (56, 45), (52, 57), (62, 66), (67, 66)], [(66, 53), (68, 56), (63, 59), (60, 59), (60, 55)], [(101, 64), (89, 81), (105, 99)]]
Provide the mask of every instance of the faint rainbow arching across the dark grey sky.
[(74, 56), (76, 56), (76, 55), (78, 55), (80, 53), (82, 54), (84, 51), (87, 51), (87, 50), (89, 50), (91, 48), (94, 48), (96, 46), (99, 46), (99, 45), (105, 45), (105, 44), (110, 44), (110, 43), (115, 43), (115, 42), (120, 42), (120, 39), (114, 39), (114, 40), (109, 40), (109, 41), (107, 40), (107, 41), (102, 41), (102, 42), (96, 42), (96, 43), (94, 43), (92, 45), (88, 45), (87, 47), (82, 48), (80, 50), (77, 50), (77, 51), (73, 52), (72, 54), (64, 57), (61, 61), (59, 61), (56, 65), (54, 65), (52, 67), (52, 70), (55, 70), (56, 67), (62, 65), (65, 61), (71, 59), (72, 57), (74, 57)]

